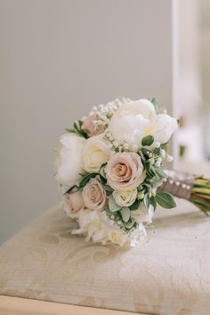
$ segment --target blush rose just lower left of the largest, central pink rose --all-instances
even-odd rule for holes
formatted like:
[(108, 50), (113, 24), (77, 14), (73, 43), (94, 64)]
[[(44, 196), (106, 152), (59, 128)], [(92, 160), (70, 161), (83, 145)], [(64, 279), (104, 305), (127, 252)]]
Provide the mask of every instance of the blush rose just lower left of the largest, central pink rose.
[(91, 178), (82, 192), (85, 207), (90, 210), (103, 210), (107, 195), (98, 178)]

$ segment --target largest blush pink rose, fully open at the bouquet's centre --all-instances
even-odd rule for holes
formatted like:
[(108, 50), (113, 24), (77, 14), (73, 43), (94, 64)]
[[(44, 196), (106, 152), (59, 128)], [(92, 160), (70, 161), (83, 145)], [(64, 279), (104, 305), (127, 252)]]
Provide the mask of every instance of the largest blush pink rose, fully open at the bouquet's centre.
[(119, 191), (139, 187), (146, 175), (137, 153), (111, 155), (105, 171), (108, 185)]

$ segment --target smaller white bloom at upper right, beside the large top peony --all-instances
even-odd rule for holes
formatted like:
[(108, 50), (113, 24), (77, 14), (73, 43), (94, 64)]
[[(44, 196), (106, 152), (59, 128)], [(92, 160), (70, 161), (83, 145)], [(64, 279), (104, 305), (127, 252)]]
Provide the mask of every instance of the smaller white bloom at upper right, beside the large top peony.
[(178, 127), (177, 120), (167, 114), (159, 114), (151, 120), (147, 128), (147, 134), (152, 135), (155, 142), (165, 144), (168, 142), (175, 129)]

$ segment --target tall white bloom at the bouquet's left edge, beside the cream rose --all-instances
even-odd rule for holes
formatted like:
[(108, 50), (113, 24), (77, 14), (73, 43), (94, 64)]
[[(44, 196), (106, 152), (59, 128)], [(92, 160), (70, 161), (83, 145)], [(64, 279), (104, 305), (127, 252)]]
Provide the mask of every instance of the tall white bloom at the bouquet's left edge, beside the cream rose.
[(61, 136), (54, 167), (56, 178), (62, 186), (71, 187), (77, 183), (82, 172), (82, 150), (85, 144), (83, 137), (75, 134)]

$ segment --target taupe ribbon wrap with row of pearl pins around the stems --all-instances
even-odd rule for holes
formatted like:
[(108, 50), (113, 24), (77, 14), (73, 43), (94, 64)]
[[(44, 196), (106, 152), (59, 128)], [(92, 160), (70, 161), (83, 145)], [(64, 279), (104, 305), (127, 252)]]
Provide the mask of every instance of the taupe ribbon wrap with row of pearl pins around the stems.
[(190, 199), (195, 176), (180, 170), (165, 170), (168, 178), (159, 190), (165, 191), (175, 197)]

